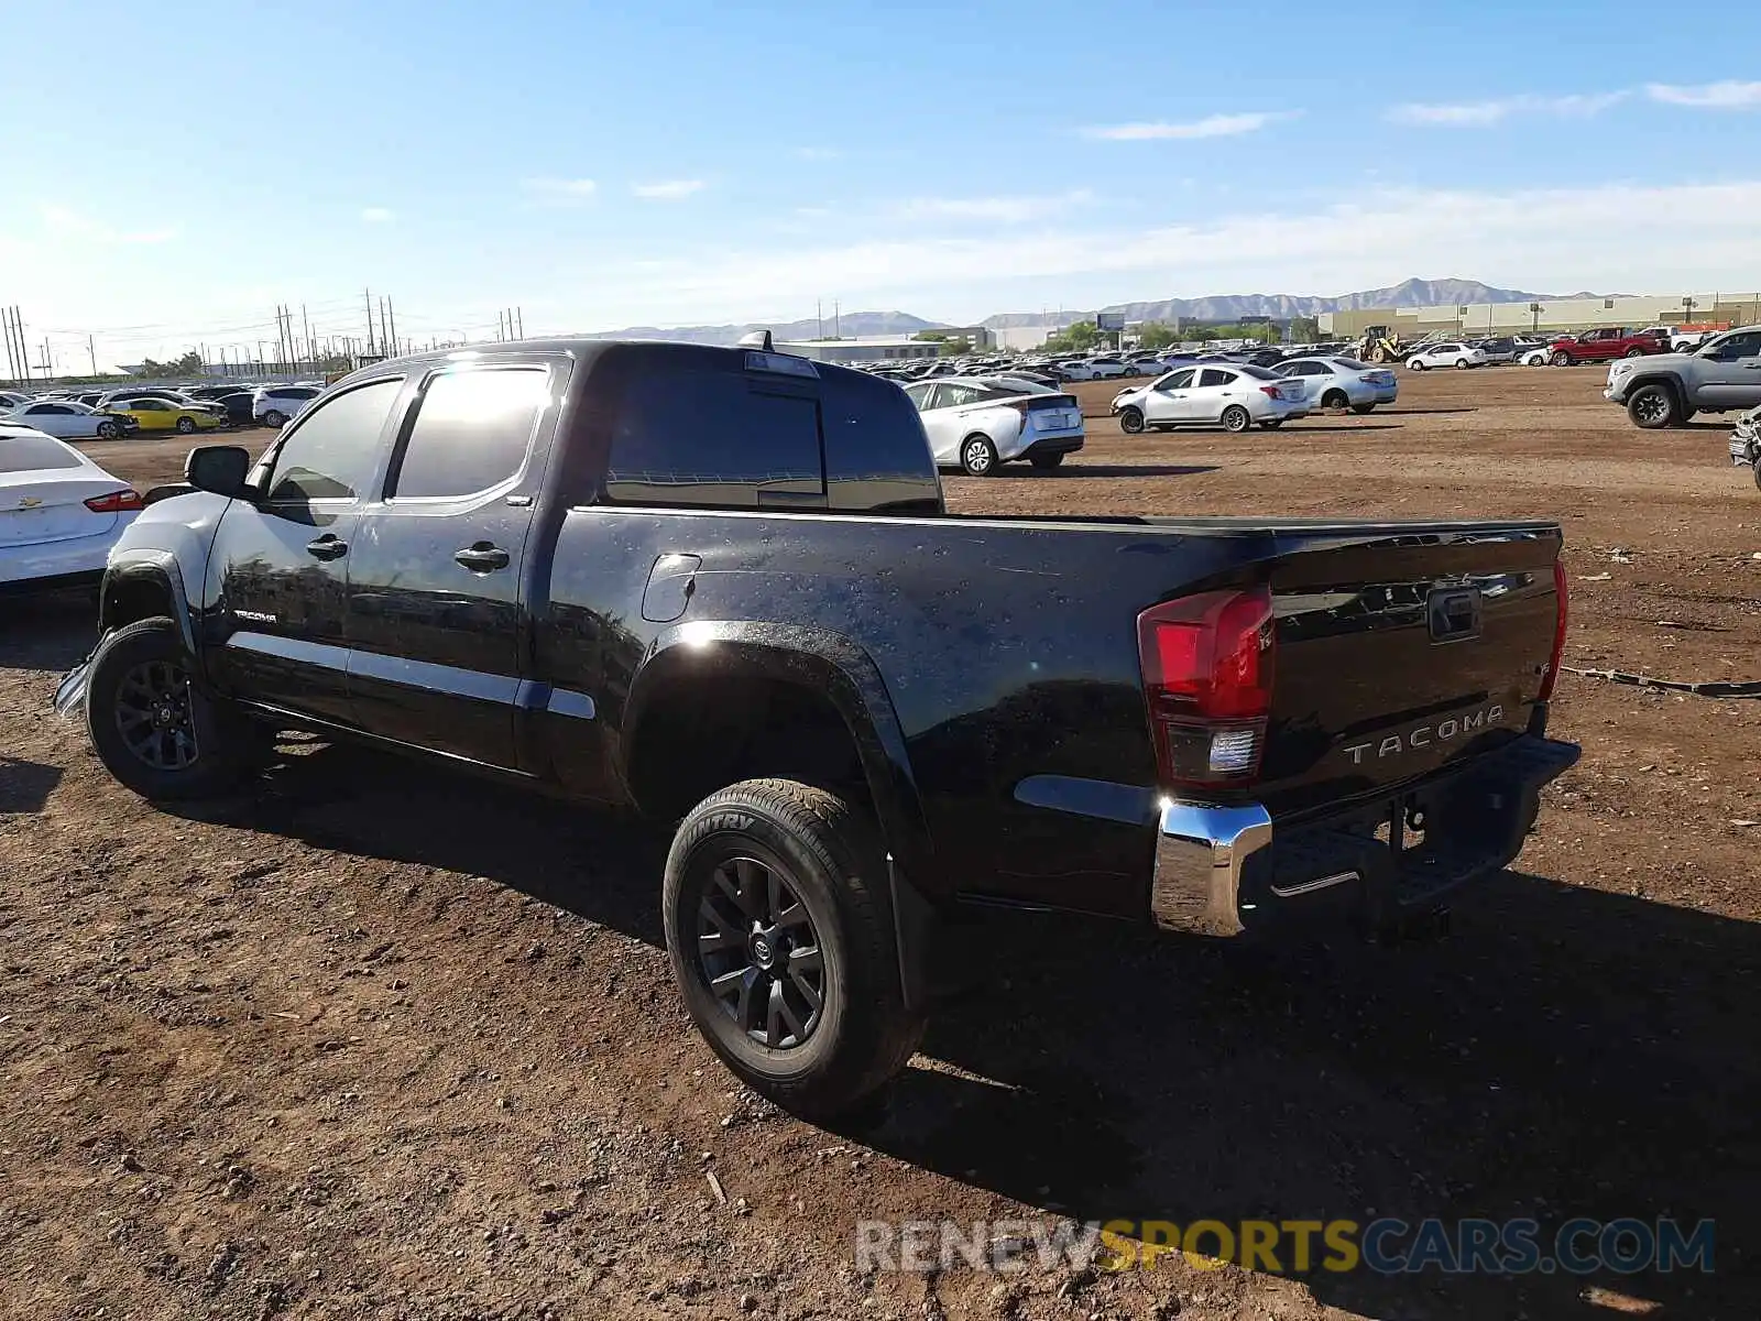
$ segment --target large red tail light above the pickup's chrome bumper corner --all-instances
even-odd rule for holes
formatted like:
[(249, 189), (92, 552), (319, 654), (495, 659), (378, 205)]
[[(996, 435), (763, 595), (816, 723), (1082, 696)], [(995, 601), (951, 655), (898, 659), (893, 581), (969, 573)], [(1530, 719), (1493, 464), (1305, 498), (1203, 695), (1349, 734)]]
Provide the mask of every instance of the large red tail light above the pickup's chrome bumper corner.
[(1164, 786), (1224, 789), (1259, 777), (1273, 659), (1266, 587), (1203, 592), (1138, 616), (1138, 660)]

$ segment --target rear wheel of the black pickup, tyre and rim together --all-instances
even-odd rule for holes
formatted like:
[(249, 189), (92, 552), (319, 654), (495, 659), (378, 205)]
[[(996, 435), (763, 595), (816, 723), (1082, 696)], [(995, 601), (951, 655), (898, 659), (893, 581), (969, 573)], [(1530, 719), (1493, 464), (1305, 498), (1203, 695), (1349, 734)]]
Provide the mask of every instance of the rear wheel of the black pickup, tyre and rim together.
[(851, 1110), (923, 1036), (884, 877), (868, 821), (794, 780), (710, 794), (673, 837), (662, 912), (685, 1009), (741, 1081), (798, 1115)]

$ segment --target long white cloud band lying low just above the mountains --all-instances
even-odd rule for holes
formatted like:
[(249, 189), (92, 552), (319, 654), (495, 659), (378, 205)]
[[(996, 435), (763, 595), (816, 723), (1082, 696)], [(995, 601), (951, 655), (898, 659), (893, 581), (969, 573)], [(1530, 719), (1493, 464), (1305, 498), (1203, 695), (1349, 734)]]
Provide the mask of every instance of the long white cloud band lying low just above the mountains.
[[(1530, 289), (1729, 287), (1754, 269), (1761, 180), (1724, 185), (1470, 192), (1367, 190), (1328, 206), (1247, 211), (1145, 229), (914, 232), (845, 243), (699, 248), (634, 271), (571, 271), (601, 324), (696, 322), (810, 305), (910, 306), (960, 319), (1043, 301), (1284, 289), (1338, 292), (1414, 273), (1476, 275)], [(1643, 215), (1643, 229), (1603, 224)], [(1652, 234), (1668, 232), (1659, 248)], [(646, 254), (643, 254), (646, 255)], [(1032, 291), (1032, 292), (1030, 292)], [(1116, 292), (1115, 292), (1116, 291)], [(567, 314), (564, 314), (567, 315)]]

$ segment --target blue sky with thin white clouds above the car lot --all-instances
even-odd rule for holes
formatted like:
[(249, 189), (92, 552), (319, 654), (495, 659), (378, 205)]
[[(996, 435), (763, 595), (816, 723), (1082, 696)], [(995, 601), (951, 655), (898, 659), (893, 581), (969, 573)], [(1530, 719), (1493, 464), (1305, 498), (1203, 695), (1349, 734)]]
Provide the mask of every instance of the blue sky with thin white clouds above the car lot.
[(1668, 12), (12, 5), (0, 303), (70, 365), (273, 342), (276, 303), (359, 333), (365, 287), (419, 340), (1756, 289), (1761, 9)]

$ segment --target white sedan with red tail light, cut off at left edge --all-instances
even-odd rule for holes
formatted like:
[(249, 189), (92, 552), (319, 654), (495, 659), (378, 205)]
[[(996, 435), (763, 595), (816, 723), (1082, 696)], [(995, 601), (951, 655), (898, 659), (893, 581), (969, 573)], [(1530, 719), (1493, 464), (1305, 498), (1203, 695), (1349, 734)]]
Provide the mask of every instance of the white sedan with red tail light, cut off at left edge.
[(104, 576), (141, 497), (90, 458), (28, 426), (0, 426), (0, 590)]

